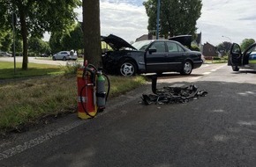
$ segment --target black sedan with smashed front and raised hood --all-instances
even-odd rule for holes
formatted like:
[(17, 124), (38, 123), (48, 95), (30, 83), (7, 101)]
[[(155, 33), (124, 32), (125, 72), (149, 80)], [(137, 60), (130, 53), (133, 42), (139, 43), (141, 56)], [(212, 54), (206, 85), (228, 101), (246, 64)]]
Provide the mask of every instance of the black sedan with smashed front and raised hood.
[(102, 54), (103, 69), (122, 76), (140, 73), (176, 71), (190, 75), (192, 69), (200, 68), (201, 53), (191, 51), (174, 40), (142, 40), (130, 45), (125, 40), (110, 34), (102, 37), (113, 51)]

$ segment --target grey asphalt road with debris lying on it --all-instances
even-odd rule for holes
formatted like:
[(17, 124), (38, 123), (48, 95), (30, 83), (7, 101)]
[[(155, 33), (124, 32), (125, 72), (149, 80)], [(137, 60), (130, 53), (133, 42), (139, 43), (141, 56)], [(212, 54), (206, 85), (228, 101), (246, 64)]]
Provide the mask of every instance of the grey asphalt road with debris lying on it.
[(142, 105), (148, 84), (110, 99), (93, 120), (72, 114), (1, 140), (0, 166), (255, 166), (255, 73), (207, 64), (191, 76), (162, 76), (157, 86), (174, 84), (196, 84), (207, 97)]

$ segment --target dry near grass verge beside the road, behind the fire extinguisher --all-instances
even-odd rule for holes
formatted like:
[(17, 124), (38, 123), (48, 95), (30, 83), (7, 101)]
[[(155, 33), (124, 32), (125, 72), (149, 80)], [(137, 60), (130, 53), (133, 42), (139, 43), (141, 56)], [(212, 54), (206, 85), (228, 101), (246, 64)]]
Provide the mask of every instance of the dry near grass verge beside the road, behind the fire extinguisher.
[[(109, 98), (145, 83), (142, 76), (109, 76), (109, 80)], [(75, 75), (0, 84), (0, 132), (22, 130), (26, 125), (37, 124), (41, 118), (49, 115), (75, 113), (78, 96), (76, 85)]]

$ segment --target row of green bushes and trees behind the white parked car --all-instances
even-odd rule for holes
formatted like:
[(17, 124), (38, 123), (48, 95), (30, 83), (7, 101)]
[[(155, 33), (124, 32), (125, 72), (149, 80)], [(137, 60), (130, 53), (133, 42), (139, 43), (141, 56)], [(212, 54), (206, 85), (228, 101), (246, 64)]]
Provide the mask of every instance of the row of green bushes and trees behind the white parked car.
[[(0, 50), (12, 53), (12, 32), (1, 32), (0, 35)], [(61, 50), (76, 50), (83, 49), (83, 33), (81, 23), (74, 24), (69, 32), (51, 33), (49, 41), (44, 41), (39, 37), (28, 38), (28, 55), (38, 56), (40, 54), (56, 54)], [(22, 54), (22, 40), (18, 36), (15, 41), (16, 54)]]

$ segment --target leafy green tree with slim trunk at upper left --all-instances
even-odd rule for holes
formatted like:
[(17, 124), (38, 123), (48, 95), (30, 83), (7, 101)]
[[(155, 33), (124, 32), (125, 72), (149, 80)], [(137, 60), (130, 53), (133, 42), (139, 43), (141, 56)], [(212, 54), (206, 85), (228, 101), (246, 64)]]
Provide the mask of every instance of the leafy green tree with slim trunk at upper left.
[(17, 15), (17, 31), (23, 40), (22, 69), (27, 69), (27, 37), (60, 32), (73, 24), (79, 0), (0, 0), (0, 27), (11, 29), (11, 14)]

